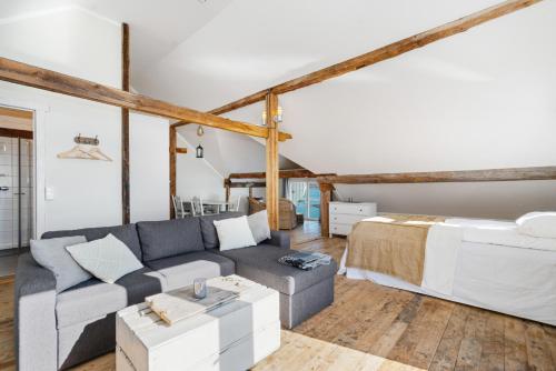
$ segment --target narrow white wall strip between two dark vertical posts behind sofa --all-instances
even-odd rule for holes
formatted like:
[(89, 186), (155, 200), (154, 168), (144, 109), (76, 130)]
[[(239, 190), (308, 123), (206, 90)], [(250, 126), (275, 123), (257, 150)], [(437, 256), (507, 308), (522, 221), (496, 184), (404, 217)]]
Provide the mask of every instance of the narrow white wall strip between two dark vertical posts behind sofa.
[(169, 122), (131, 113), (129, 117), (129, 183), (131, 222), (170, 217)]

